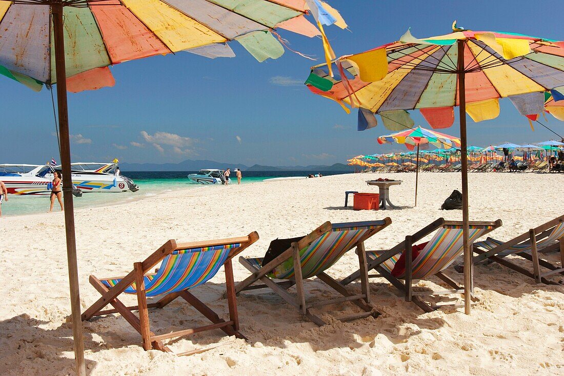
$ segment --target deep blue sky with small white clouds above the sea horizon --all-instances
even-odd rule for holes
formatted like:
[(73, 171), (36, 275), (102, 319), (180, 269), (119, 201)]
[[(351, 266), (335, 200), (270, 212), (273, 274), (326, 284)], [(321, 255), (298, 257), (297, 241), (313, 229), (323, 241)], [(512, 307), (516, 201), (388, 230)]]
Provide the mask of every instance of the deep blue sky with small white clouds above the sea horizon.
[[(411, 27), (416, 37), (451, 31), (453, 20), (474, 30), (504, 30), (564, 40), (564, 4), (541, 6), (515, 1), (369, 1), (328, 0), (340, 10), (349, 30), (328, 27), (337, 55), (357, 53), (398, 40)], [(280, 32), (290, 46), (323, 60), (321, 41)], [(311, 62), (286, 51), (277, 60), (258, 63), (238, 43), (237, 56), (206, 59), (178, 53), (112, 67), (113, 88), (69, 93), (71, 149), (74, 161), (131, 163), (211, 159), (247, 165), (332, 164), (358, 154), (403, 151), (381, 146), (379, 124), (356, 131), (356, 112), (313, 95), (303, 85)], [(58, 159), (51, 95), (0, 77), (2, 109), (0, 163), (45, 163)], [(416, 124), (426, 125), (417, 111)], [(381, 121), (380, 121), (381, 123)], [(444, 133), (459, 135), (457, 126)], [(564, 134), (564, 123), (546, 125)], [(552, 133), (535, 127), (508, 100), (501, 100), (495, 120), (473, 123), (469, 145), (545, 141)], [(156, 146), (155, 146), (156, 145)], [(205, 166), (202, 166), (202, 168)]]

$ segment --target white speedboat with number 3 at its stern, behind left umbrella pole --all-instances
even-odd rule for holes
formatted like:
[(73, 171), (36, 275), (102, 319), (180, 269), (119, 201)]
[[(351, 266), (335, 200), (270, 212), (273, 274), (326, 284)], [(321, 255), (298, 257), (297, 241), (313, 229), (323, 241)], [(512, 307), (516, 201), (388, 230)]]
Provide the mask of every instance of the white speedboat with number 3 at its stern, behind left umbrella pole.
[[(60, 170), (61, 165), (55, 166)], [(73, 185), (83, 192), (136, 192), (139, 186), (133, 180), (122, 176), (117, 163), (78, 162), (70, 164)], [(53, 178), (52, 172), (45, 175)]]

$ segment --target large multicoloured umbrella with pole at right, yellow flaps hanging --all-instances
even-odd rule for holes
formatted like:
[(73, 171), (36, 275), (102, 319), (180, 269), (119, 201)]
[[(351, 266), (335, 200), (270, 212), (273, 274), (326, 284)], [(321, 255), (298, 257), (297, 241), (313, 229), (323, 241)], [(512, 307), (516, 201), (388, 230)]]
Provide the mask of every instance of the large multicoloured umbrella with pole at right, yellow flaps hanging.
[(345, 55), (329, 67), (312, 67), (306, 84), (315, 94), (358, 108), (358, 129), (377, 124), (411, 126), (407, 110), (420, 110), (432, 128), (453, 124), (459, 106), (462, 163), (465, 313), (470, 313), (472, 250), (468, 228), (466, 114), (474, 121), (499, 115), (499, 98), (510, 98), (522, 115), (544, 111), (544, 92), (564, 86), (564, 42), (507, 32), (475, 32), (452, 25), (452, 33), (416, 38)]

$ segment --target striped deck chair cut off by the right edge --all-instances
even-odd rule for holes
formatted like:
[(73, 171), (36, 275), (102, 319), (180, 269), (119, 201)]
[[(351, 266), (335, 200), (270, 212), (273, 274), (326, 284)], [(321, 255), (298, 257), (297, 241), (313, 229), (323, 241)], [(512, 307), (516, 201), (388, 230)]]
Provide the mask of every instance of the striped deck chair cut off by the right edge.
[[(525, 234), (519, 235), (508, 242), (501, 242), (496, 239), (487, 238), (483, 242), (474, 243), (474, 252), (478, 256), (474, 256), (474, 265), (481, 264), (484, 261), (495, 261), (516, 272), (525, 274), (525, 276), (534, 278), (537, 283), (546, 283), (547, 285), (561, 284), (548, 280), (545, 277), (554, 274), (564, 276), (564, 215), (554, 218), (552, 221), (530, 229)], [(560, 251), (560, 266), (549, 263), (539, 258), (539, 253)], [(515, 255), (532, 262), (533, 272), (522, 268), (505, 259), (506, 256)], [(549, 269), (543, 273), (540, 267)], [(459, 268), (460, 271), (461, 268)]]

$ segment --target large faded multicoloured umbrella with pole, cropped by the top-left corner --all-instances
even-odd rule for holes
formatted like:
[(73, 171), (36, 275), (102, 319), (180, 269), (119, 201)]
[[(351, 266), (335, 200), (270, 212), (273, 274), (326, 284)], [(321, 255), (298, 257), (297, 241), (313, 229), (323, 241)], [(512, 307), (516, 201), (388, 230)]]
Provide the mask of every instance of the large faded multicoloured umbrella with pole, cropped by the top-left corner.
[[(304, 16), (311, 12), (319, 30)], [(188, 51), (216, 58), (234, 56), (236, 41), (259, 62), (284, 53), (286, 29), (321, 36), (326, 58), (334, 57), (322, 25), (346, 27), (338, 12), (319, 0), (14, 0), (0, 1), (0, 75), (33, 90), (57, 84), (70, 301), (76, 371), (85, 375), (67, 90), (113, 86), (108, 66)], [(282, 44), (281, 44), (282, 43)]]

